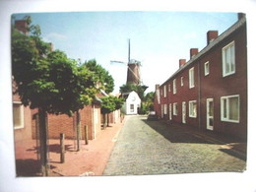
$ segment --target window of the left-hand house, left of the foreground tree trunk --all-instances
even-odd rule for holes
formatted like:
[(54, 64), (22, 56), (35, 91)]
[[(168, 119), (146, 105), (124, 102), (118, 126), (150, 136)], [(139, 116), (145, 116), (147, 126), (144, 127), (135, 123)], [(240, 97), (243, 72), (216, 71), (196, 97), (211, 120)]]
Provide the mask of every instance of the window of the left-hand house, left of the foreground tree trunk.
[(14, 112), (14, 128), (22, 129), (24, 128), (24, 106), (22, 102), (13, 102), (13, 112)]

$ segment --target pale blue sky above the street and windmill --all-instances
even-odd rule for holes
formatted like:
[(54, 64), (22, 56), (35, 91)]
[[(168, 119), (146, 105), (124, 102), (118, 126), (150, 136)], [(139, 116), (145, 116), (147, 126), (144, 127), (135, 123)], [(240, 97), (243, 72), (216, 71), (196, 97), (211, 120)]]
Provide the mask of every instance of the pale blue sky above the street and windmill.
[(203, 12), (66, 12), (15, 14), (23, 19), (32, 16), (39, 25), (44, 41), (64, 51), (69, 58), (96, 59), (115, 82), (114, 93), (126, 83), (127, 65), (110, 63), (128, 61), (128, 39), (131, 59), (141, 61), (141, 79), (154, 92), (176, 70), (178, 60), (189, 60), (190, 48), (202, 50), (208, 31), (219, 35), (237, 21), (237, 13)]

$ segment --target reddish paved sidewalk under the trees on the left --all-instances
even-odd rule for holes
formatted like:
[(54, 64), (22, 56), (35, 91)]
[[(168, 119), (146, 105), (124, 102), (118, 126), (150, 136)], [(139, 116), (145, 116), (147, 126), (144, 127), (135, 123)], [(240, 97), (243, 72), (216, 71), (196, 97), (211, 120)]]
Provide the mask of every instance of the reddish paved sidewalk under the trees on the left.
[[(125, 119), (122, 123), (110, 124), (95, 140), (89, 140), (89, 145), (81, 140), (79, 152), (76, 141), (65, 140), (64, 163), (60, 163), (60, 141), (49, 140), (49, 176), (101, 175), (124, 122)], [(16, 163), (18, 176), (40, 176), (35, 140), (16, 143)]]

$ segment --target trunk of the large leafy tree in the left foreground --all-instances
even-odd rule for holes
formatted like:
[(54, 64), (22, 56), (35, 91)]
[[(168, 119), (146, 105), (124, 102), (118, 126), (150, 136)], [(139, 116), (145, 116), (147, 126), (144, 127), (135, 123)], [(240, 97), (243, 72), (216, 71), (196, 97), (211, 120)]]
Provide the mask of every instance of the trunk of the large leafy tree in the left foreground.
[(39, 140), (40, 140), (40, 162), (43, 176), (48, 176), (48, 133), (46, 112), (39, 108)]

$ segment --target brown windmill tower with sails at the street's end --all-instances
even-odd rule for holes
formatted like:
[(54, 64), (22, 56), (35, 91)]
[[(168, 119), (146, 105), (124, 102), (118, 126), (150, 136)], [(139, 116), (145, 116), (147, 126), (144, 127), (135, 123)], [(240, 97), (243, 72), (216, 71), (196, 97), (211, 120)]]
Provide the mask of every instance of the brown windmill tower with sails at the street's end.
[(130, 59), (130, 39), (128, 39), (128, 63), (123, 61), (111, 60), (110, 63), (127, 64), (127, 81), (126, 84), (141, 85), (140, 66), (141, 62), (135, 59)]

